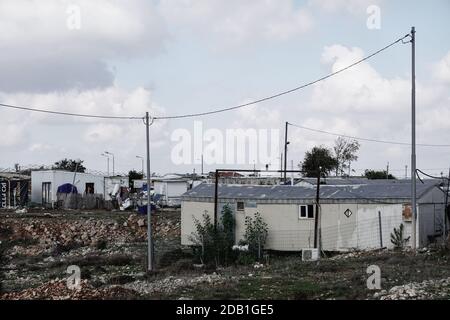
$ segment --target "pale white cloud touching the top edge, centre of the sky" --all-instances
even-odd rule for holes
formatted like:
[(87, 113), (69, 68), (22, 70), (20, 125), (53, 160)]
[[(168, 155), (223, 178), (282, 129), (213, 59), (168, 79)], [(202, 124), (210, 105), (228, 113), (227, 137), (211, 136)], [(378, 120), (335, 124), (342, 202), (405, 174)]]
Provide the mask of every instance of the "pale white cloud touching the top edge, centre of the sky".
[(159, 9), (174, 28), (188, 29), (219, 47), (287, 40), (313, 25), (309, 12), (292, 0), (162, 0)]

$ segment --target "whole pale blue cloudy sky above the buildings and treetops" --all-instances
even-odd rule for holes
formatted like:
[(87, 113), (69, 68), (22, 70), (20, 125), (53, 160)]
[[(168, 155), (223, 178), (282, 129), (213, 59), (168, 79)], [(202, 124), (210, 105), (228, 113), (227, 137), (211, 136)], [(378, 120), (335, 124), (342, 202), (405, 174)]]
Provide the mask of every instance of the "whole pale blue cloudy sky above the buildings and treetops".
[[(447, 0), (2, 0), (0, 103), (152, 117), (227, 108), (339, 70), (415, 26), (417, 142), (449, 144), (449, 14)], [(151, 171), (199, 172), (202, 154), (205, 172), (278, 169), (286, 121), (410, 142), (411, 45), (398, 43), (304, 90), (239, 110), (155, 119)], [(0, 168), (73, 158), (106, 171), (101, 153), (109, 151), (115, 171), (127, 172), (141, 169), (136, 156), (146, 152), (142, 120), (0, 108), (0, 129)], [(256, 132), (258, 140), (228, 150), (227, 132), (237, 129)], [(199, 139), (203, 149), (195, 146)], [(289, 127), (289, 163), (297, 166), (314, 146), (332, 148), (335, 139)], [(231, 151), (235, 160), (227, 158)], [(357, 174), (389, 163), (404, 177), (410, 153), (409, 146), (361, 141), (352, 168)], [(449, 147), (417, 147), (418, 168), (437, 175), (449, 166)]]

